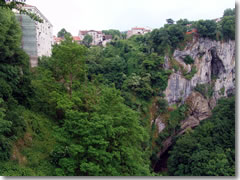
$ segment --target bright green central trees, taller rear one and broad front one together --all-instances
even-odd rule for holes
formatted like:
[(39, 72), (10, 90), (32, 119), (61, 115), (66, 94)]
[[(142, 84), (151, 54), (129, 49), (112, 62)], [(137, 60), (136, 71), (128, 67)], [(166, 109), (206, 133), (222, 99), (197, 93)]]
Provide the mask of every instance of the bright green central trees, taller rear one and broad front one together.
[(149, 175), (148, 136), (139, 114), (124, 105), (114, 87), (85, 78), (85, 50), (66, 40), (38, 68), (40, 74), (50, 74), (51, 84), (59, 83), (59, 88), (48, 88), (46, 77), (36, 77), (36, 91), (43, 86), (50, 94), (39, 100), (52, 106), (49, 115), (58, 124), (51, 153), (54, 175)]

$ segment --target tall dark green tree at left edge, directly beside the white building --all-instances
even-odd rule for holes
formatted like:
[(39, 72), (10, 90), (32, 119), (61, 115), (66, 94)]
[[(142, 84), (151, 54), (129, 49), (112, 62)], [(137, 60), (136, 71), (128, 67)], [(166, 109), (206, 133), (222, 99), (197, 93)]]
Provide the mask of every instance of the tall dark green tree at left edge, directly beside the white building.
[(20, 48), (21, 29), (14, 13), (1, 8), (0, 16), (0, 81), (6, 87), (0, 96), (3, 93), (4, 100), (14, 97), (24, 104), (31, 94), (29, 57)]

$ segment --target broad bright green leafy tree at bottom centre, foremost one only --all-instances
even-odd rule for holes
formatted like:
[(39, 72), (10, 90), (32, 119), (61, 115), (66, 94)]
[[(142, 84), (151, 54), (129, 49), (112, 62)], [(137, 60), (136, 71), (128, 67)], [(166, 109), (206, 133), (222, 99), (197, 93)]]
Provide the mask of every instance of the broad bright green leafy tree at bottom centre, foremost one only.
[[(139, 125), (137, 113), (123, 104), (114, 88), (97, 90), (91, 84), (85, 88), (89, 95), (76, 92), (78, 96), (72, 99), (88, 102), (83, 104), (85, 112), (66, 111), (62, 130), (67, 134), (60, 137), (60, 144), (52, 153), (52, 160), (59, 167), (56, 174), (149, 175), (142, 149), (147, 134)], [(94, 104), (89, 102), (91, 99)]]

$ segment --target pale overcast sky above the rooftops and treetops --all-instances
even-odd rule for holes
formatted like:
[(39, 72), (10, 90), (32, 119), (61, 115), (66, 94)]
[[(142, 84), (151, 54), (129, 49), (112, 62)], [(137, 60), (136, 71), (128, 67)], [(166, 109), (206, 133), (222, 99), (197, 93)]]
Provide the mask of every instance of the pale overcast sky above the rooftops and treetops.
[(132, 27), (160, 28), (167, 18), (177, 21), (214, 19), (234, 0), (27, 0), (53, 24), (53, 32), (65, 28), (72, 35), (79, 30)]

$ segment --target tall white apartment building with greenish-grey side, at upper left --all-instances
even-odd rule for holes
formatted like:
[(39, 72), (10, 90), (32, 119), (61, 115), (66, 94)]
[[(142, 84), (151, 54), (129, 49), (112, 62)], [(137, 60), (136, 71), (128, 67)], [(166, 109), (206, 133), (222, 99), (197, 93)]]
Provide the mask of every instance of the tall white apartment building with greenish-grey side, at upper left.
[(52, 54), (53, 25), (35, 6), (25, 5), (22, 8), (43, 20), (40, 23), (27, 15), (16, 13), (23, 32), (22, 48), (30, 56), (31, 67), (35, 67), (38, 64), (38, 57)]

